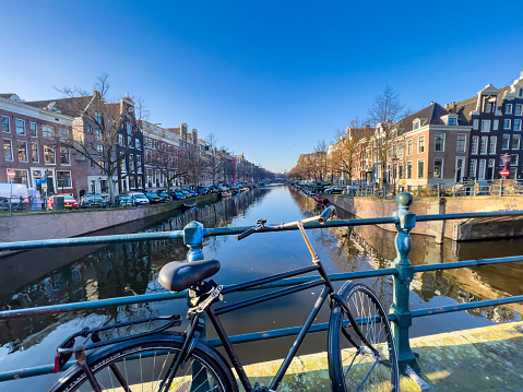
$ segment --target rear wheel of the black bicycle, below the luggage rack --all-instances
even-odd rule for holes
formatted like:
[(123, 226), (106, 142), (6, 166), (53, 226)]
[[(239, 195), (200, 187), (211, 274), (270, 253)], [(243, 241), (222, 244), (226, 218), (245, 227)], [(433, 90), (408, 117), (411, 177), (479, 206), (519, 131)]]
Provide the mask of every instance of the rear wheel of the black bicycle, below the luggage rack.
[[(95, 352), (87, 357), (87, 361), (102, 391), (153, 392), (159, 389), (168, 366), (180, 353), (182, 344), (183, 340), (179, 335), (166, 334), (165, 338), (154, 341), (142, 338), (131, 341), (128, 345)], [(111, 366), (118, 369), (129, 389), (122, 387)], [(84, 370), (76, 364), (48, 391), (86, 392), (93, 391), (93, 388)], [(222, 355), (214, 348), (198, 343), (183, 368), (180, 367), (175, 375), (169, 389), (171, 391), (237, 392), (238, 385)]]

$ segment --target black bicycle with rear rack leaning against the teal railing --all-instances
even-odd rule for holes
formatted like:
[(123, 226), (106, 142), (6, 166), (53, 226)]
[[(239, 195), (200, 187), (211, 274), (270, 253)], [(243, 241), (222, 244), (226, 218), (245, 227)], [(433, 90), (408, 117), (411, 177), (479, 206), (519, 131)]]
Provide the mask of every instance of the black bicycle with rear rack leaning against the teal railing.
[[(396, 348), (383, 306), (373, 292), (362, 284), (346, 282), (336, 294), (312, 245), (304, 224), (323, 224), (333, 206), (321, 215), (288, 224), (257, 225), (237, 239), (257, 231), (270, 231), (297, 226), (311, 253), (312, 265), (222, 286), (210, 280), (219, 270), (217, 260), (195, 262), (173, 261), (158, 275), (159, 283), (171, 292), (189, 290), (189, 326), (183, 333), (167, 331), (181, 324), (181, 317), (156, 317), (82, 330), (68, 337), (57, 349), (56, 371), (74, 355), (71, 366), (49, 391), (238, 391), (233, 367), (245, 391), (275, 391), (290, 361), (307, 335), (320, 308), (329, 299), (331, 316), (328, 332), (329, 375), (333, 391), (399, 391), (400, 375)], [(287, 277), (318, 272), (312, 282), (278, 289), (215, 308), (223, 296)], [(294, 344), (269, 387), (251, 382), (225, 332), (218, 316), (270, 299), (322, 286), (312, 309), (301, 326)], [(231, 364), (200, 338), (205, 314), (213, 324)], [(158, 326), (156, 326), (159, 324)], [(141, 325), (144, 331), (130, 334), (130, 329)], [(80, 344), (76, 341), (82, 341)], [(86, 351), (98, 348), (91, 354)], [(146, 389), (143, 389), (146, 384)]]

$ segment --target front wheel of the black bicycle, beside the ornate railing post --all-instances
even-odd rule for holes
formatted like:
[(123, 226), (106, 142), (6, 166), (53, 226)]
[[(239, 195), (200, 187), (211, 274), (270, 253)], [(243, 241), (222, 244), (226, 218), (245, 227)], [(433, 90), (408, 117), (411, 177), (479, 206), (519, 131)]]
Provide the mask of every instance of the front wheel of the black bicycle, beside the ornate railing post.
[[(346, 282), (338, 294), (356, 320), (369, 320), (359, 324), (359, 329), (369, 344), (379, 352), (379, 357), (362, 344), (343, 307), (334, 302), (329, 321), (328, 354), (332, 391), (400, 391), (396, 348), (380, 300), (366, 285), (352, 282)], [(377, 316), (381, 322), (377, 322)], [(349, 342), (345, 333), (355, 344)]]

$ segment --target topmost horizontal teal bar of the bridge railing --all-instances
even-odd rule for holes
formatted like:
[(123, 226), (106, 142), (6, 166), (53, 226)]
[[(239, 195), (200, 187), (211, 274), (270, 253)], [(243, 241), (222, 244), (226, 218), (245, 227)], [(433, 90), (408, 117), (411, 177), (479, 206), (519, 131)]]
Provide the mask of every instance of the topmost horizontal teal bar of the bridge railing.
[[(449, 219), (467, 219), (467, 218), (482, 218), (482, 217), (497, 217), (497, 216), (518, 216), (523, 215), (523, 211), (492, 211), (492, 212), (478, 212), (478, 213), (460, 213), (460, 214), (438, 214), (438, 215), (417, 215), (417, 222), (428, 221), (449, 221)], [(361, 219), (338, 219), (329, 221), (324, 224), (308, 223), (305, 228), (324, 228), (324, 227), (343, 227), (343, 226), (365, 226), (365, 225), (381, 225), (381, 224), (394, 224), (395, 217), (373, 217)], [(240, 227), (217, 227), (204, 229), (205, 237), (213, 236), (230, 236), (241, 234), (251, 226)], [(286, 231), (297, 230), (298, 228), (282, 227), (282, 228), (264, 228), (258, 233), (270, 231)], [(57, 247), (75, 247), (81, 245), (97, 245), (97, 243), (115, 243), (115, 242), (129, 242), (129, 241), (146, 241), (146, 240), (163, 240), (163, 239), (180, 239), (183, 238), (182, 230), (173, 231), (154, 231), (154, 233), (139, 233), (139, 234), (126, 234), (126, 235), (111, 235), (111, 236), (94, 236), (94, 237), (76, 237), (76, 238), (60, 238), (60, 239), (44, 239), (34, 241), (16, 241), (16, 242), (2, 242), (0, 243), (0, 251), (8, 250), (26, 250), (37, 248), (57, 248)]]

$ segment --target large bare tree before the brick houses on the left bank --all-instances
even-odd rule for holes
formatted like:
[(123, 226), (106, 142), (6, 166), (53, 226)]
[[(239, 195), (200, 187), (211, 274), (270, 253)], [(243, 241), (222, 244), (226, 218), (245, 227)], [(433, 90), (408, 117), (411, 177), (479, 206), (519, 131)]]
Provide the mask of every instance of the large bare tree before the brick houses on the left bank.
[(72, 134), (60, 134), (60, 149), (69, 149), (81, 159), (98, 167), (100, 175), (107, 176), (109, 197), (115, 200), (115, 177), (141, 176), (142, 132), (138, 121), (145, 116), (143, 102), (138, 104), (127, 95), (120, 103), (111, 103), (109, 75), (95, 80), (94, 93), (79, 87), (63, 87), (66, 98), (58, 99), (56, 106), (62, 112), (74, 117)]

